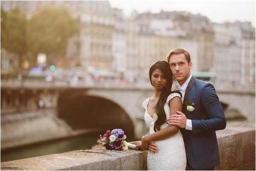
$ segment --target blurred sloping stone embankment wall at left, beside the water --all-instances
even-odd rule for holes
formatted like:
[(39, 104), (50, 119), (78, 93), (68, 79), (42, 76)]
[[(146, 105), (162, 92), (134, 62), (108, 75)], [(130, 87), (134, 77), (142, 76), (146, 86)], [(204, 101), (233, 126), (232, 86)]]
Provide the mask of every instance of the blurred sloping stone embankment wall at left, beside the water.
[(54, 109), (9, 114), (1, 116), (1, 150), (100, 130), (105, 129), (73, 130), (66, 122), (55, 116)]

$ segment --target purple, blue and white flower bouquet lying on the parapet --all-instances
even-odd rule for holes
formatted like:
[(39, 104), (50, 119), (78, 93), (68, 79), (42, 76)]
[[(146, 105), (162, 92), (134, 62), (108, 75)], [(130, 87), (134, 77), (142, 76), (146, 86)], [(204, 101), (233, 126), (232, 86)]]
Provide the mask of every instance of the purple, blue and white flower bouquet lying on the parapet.
[(125, 132), (122, 129), (107, 130), (98, 142), (105, 146), (107, 150), (128, 150), (128, 148), (136, 149), (136, 145), (125, 141)]

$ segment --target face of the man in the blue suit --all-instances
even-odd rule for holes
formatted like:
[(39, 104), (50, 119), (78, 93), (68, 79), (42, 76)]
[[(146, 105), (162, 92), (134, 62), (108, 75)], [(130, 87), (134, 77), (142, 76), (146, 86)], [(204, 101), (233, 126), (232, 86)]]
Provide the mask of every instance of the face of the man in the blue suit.
[(188, 62), (184, 54), (173, 54), (169, 58), (169, 65), (174, 78), (182, 85), (190, 76), (192, 62)]

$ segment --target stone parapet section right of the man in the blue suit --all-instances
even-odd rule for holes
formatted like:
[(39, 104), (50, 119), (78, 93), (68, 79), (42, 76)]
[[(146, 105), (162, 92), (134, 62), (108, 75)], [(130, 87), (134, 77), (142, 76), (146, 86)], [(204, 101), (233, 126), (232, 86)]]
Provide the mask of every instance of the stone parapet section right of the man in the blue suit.
[(255, 171), (255, 123), (241, 123), (216, 131), (221, 165), (215, 170)]

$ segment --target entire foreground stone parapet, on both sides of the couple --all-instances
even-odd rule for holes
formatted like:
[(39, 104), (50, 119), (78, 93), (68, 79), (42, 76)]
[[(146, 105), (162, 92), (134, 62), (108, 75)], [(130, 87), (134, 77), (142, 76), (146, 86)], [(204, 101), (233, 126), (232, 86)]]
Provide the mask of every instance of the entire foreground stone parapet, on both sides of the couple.
[[(215, 170), (255, 170), (255, 123), (217, 131), (221, 165)], [(70, 151), (1, 162), (1, 170), (147, 170), (146, 151)]]

